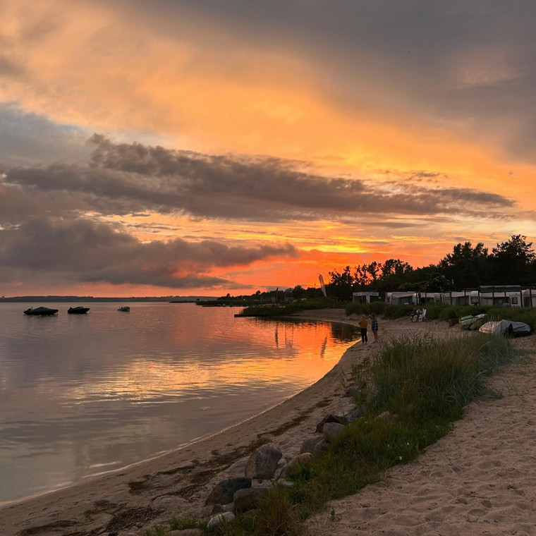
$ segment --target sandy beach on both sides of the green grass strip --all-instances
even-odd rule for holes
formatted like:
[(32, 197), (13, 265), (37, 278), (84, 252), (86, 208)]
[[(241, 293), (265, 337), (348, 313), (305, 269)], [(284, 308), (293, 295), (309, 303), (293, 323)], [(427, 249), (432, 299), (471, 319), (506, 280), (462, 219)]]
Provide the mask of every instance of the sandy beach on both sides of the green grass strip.
[[(343, 310), (303, 317), (357, 324)], [(446, 322), (380, 322), (380, 338), (408, 331), (460, 334)], [(534, 353), (535, 336), (514, 344)], [(381, 345), (355, 344), (319, 382), (275, 408), (183, 449), (116, 473), (0, 509), (6, 536), (142, 536), (177, 514), (208, 516), (204, 502), (216, 482), (243, 475), (244, 460), (273, 442), (284, 455), (299, 452), (327, 413), (344, 414), (341, 395), (351, 365)], [(310, 520), (313, 532), (337, 535), (536, 534), (536, 364), (532, 357), (492, 379), (504, 395), (472, 403), (453, 432), (418, 460), (398, 465), (384, 482), (333, 501)], [(233, 468), (233, 464), (236, 464)], [(231, 467), (231, 469), (229, 469)], [(329, 512), (334, 511), (334, 514)]]

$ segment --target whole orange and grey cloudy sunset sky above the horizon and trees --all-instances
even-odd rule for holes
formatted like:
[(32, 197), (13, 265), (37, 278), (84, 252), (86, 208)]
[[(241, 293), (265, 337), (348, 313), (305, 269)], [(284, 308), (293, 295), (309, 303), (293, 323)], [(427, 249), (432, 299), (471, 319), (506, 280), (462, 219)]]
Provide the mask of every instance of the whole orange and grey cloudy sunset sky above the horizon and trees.
[(0, 296), (318, 286), (536, 242), (536, 4), (0, 0)]

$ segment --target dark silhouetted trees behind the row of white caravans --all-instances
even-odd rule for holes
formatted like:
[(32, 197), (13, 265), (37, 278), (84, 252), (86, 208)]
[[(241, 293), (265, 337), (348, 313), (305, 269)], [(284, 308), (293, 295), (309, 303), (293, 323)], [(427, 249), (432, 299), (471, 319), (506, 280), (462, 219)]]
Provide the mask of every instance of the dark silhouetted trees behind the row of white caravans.
[(359, 291), (463, 291), (481, 285), (536, 285), (532, 242), (513, 235), (489, 252), (482, 242), (458, 243), (437, 264), (413, 268), (400, 259), (373, 261), (329, 272), (328, 296), (342, 301)]

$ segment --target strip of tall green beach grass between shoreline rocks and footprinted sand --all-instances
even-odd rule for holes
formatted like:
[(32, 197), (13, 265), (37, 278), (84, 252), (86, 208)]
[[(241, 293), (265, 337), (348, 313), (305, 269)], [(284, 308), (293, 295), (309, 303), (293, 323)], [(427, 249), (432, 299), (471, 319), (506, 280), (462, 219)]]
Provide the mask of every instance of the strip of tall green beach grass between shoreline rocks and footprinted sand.
[(374, 359), (353, 367), (355, 383), (366, 384), (355, 402), (366, 403), (367, 413), (327, 453), (299, 465), (287, 477), (293, 487), (274, 486), (260, 508), (239, 514), (232, 525), (207, 530), (204, 523), (190, 523), (207, 535), (306, 535), (305, 520), (325, 510), (329, 500), (354, 494), (384, 479), (394, 465), (414, 460), (451, 430), (470, 401), (500, 396), (486, 379), (515, 357), (508, 339), (480, 333), (448, 340), (401, 336), (385, 343)]

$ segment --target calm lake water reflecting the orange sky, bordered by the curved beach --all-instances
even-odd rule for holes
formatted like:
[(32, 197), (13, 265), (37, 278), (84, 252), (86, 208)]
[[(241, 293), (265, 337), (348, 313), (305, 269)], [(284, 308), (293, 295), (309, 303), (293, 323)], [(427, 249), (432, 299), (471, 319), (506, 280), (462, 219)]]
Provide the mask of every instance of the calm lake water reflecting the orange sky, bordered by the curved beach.
[(23, 315), (30, 305), (0, 303), (0, 504), (260, 413), (322, 377), (355, 334), (234, 318), (237, 307), (47, 303), (57, 316)]

